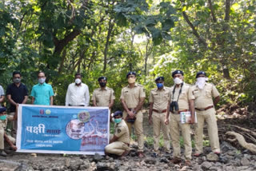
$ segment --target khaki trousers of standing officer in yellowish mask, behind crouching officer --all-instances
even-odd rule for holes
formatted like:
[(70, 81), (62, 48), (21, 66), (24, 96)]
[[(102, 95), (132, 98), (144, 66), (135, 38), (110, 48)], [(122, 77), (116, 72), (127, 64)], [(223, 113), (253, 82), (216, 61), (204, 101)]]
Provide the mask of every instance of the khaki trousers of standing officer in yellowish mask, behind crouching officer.
[[(123, 118), (126, 120), (127, 113), (123, 112)], [(126, 122), (129, 133), (131, 135), (131, 127), (134, 125), (136, 136), (138, 137), (138, 152), (143, 152), (144, 147), (144, 135), (143, 135), (143, 113), (141, 110), (136, 114), (136, 120), (134, 123)]]

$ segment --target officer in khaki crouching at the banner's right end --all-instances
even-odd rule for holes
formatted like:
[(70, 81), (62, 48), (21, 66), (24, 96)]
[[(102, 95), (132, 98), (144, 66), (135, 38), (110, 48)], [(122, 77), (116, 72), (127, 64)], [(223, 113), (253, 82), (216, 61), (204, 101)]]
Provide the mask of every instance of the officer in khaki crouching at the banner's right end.
[(126, 156), (130, 152), (130, 135), (126, 121), (122, 119), (122, 111), (114, 113), (114, 136), (110, 136), (110, 144), (106, 145), (106, 153)]

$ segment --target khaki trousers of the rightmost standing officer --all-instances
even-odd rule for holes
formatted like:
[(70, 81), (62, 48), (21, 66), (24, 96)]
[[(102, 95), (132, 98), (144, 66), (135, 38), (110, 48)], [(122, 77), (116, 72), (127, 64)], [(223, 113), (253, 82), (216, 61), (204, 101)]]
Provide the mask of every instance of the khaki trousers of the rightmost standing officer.
[(218, 141), (218, 126), (215, 116), (215, 109), (207, 109), (205, 111), (198, 111), (198, 123), (195, 125), (195, 149), (196, 153), (202, 153), (202, 135), (203, 135), (203, 126), (206, 121), (207, 129), (210, 139), (210, 147), (213, 152), (220, 152), (219, 141)]

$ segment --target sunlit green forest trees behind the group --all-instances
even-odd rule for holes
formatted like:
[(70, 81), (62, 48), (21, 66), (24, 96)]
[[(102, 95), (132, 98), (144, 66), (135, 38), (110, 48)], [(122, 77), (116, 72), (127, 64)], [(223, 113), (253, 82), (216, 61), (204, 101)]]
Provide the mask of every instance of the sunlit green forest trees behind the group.
[(30, 92), (42, 70), (54, 105), (64, 105), (76, 72), (90, 94), (106, 76), (120, 109), (128, 71), (147, 104), (154, 78), (171, 86), (171, 72), (183, 70), (194, 84), (204, 70), (219, 105), (247, 109), (256, 102), (255, 29), (255, 0), (1, 0), (0, 84), (6, 89), (19, 70)]

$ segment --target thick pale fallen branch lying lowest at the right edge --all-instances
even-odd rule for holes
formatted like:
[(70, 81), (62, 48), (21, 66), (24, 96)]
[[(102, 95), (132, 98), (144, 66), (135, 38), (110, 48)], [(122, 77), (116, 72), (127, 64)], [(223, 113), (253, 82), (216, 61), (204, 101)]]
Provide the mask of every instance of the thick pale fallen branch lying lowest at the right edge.
[(226, 132), (226, 135), (234, 137), (234, 138), (227, 138), (227, 141), (230, 141), (230, 142), (238, 141), (239, 145), (241, 145), (243, 148), (248, 149), (251, 153), (256, 153), (256, 145), (252, 143), (247, 143), (245, 141), (245, 138), (241, 134), (229, 131), (229, 132)]

